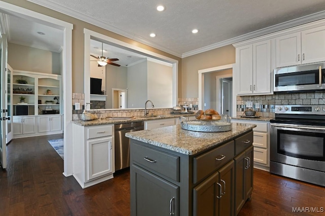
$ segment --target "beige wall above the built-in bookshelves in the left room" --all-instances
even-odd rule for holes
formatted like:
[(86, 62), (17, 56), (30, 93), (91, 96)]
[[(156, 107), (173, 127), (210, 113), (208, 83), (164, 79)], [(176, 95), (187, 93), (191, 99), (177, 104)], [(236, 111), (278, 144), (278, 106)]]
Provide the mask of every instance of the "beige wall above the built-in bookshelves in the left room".
[(8, 43), (8, 64), (14, 70), (61, 74), (61, 54)]

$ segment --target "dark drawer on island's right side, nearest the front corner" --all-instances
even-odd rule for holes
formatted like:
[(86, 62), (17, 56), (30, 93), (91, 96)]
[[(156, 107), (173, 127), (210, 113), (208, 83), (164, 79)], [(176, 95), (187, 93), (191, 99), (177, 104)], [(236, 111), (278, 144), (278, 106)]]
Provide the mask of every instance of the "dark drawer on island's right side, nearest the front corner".
[(234, 157), (234, 141), (230, 141), (193, 158), (193, 184), (201, 181)]

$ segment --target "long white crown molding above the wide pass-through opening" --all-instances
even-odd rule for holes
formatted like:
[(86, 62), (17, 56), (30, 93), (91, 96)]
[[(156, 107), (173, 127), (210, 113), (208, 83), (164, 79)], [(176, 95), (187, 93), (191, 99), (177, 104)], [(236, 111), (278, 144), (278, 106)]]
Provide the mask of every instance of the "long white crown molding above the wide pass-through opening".
[(49, 9), (57, 11), (59, 13), (66, 14), (68, 16), (74, 17), (76, 19), (82, 20), (84, 22), (90, 23), (92, 25), (95, 25), (95, 26), (98, 26), (98, 27), (101, 27), (101, 28), (104, 28), (106, 30), (112, 31), (112, 32), (117, 33), (119, 35), (122, 35), (124, 37), (127, 37), (127, 38), (133, 39), (135, 41), (141, 42), (144, 45), (147, 45), (147, 46), (153, 47), (155, 49), (158, 49), (160, 51), (163, 51), (163, 52), (169, 53), (171, 55), (174, 55), (174, 56), (176, 56), (178, 58), (181, 58), (181, 56), (182, 56), (180, 53), (169, 50), (169, 49), (167, 49), (167, 48), (165, 48), (163, 46), (154, 44), (153, 42), (151, 42), (149, 40), (146, 40), (143, 37), (140, 37), (140, 36), (135, 35), (133, 33), (124, 31), (124, 30), (122, 30), (120, 28), (114, 27), (114, 26), (109, 25), (109, 24), (107, 24), (105, 22), (94, 19), (93, 17), (87, 16), (85, 14), (81, 14), (80, 12), (77, 12), (77, 11), (71, 9), (71, 8), (60, 6), (60, 5), (56, 4), (56, 3), (53, 3), (53, 2), (48, 1), (48, 0), (27, 0), (27, 1), (31, 2), (31, 3), (35, 3), (35, 4), (40, 5), (40, 6), (43, 6), (45, 8), (49, 8)]

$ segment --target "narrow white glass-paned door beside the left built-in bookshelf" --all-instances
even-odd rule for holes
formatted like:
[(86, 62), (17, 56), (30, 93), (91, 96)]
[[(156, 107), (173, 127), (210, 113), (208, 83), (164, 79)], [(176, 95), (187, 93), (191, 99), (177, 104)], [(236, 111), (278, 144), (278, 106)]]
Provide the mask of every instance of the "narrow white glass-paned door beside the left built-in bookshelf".
[(13, 137), (13, 123), (12, 123), (12, 112), (13, 112), (13, 107), (11, 103), (12, 99), (12, 67), (10, 67), (9, 64), (7, 64), (7, 92), (6, 92), (6, 97), (7, 97), (7, 104), (6, 107), (8, 107), (8, 113), (7, 113), (7, 124), (6, 124), (6, 143), (9, 143), (12, 140)]

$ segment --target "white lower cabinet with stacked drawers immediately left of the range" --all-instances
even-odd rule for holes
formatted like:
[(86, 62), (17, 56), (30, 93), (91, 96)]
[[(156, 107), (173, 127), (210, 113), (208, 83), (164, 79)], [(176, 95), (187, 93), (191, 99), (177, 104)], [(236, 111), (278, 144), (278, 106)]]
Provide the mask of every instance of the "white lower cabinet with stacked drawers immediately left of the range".
[(253, 128), (254, 168), (270, 169), (270, 122), (233, 119), (233, 123), (256, 124)]

